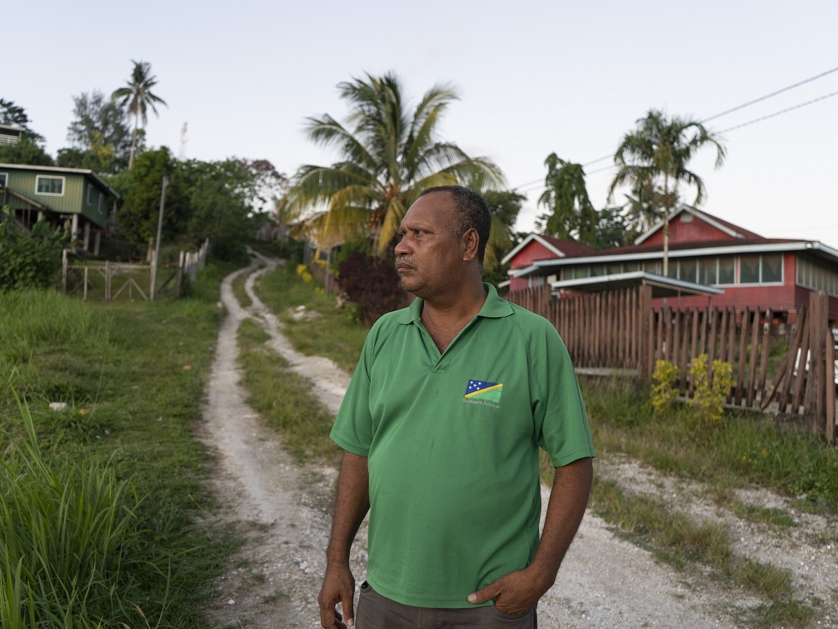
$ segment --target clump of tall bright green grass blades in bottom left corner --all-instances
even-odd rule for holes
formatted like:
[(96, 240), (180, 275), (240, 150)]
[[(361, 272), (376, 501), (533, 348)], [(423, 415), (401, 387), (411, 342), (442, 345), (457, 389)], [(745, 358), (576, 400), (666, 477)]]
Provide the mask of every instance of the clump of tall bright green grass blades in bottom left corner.
[(139, 496), (109, 465), (45, 457), (21, 409), (27, 435), (0, 465), (0, 626), (136, 624), (137, 575), (166, 569)]

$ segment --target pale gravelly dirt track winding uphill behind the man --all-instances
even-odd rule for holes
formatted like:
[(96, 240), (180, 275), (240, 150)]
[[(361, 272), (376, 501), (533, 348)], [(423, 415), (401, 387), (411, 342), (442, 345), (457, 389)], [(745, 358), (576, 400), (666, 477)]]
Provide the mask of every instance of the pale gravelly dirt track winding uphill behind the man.
[[(246, 317), (271, 335), (272, 347), (336, 412), (349, 375), (328, 359), (298, 354), (282, 337), (282, 325), (253, 290), (277, 261), (254, 257), (250, 267), (225, 278), (221, 301), (227, 315), (220, 329), (200, 436), (218, 455), (212, 489), (225, 504), (225, 522), (244, 540), (241, 554), (217, 584), (220, 595), (208, 611), (211, 626), (318, 627), (317, 595), (336, 470), (299, 466), (245, 403), (238, 383), (236, 330)], [(246, 273), (251, 306), (236, 301), (231, 283)], [(546, 505), (549, 489), (542, 488)], [(743, 538), (744, 539), (744, 538)], [(354, 544), (354, 574), (365, 572), (366, 528)], [(827, 559), (829, 559), (827, 557)], [(838, 580), (833, 579), (833, 584)], [(834, 592), (833, 592), (834, 594)], [(833, 597), (833, 602), (834, 602)], [(556, 585), (539, 605), (539, 624), (551, 627), (733, 627), (732, 606), (753, 606), (737, 592), (699, 577), (676, 573), (618, 538), (588, 513), (567, 554)], [(835, 617), (835, 616), (833, 616)]]

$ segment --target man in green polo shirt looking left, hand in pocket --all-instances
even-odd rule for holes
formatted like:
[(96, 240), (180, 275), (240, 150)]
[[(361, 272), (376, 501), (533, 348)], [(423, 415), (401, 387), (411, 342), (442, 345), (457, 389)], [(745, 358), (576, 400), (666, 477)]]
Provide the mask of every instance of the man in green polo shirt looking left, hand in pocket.
[[(370, 330), (332, 430), (326, 629), (354, 626), (349, 548), (368, 511), (360, 629), (535, 627), (582, 520), (594, 451), (576, 376), (556, 329), (483, 283), (490, 225), (459, 186), (401, 221), (396, 270), (418, 299)], [(540, 445), (556, 466), (541, 539)]]

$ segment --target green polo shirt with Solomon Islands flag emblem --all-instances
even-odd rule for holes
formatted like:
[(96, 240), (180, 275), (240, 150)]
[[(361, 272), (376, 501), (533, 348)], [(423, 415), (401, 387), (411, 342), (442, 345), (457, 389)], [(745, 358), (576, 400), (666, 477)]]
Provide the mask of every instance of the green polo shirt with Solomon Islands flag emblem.
[(368, 458), (366, 579), (404, 605), (468, 607), (523, 569), (541, 517), (538, 448), (594, 455), (570, 357), (541, 316), (489, 296), (440, 354), (422, 299), (373, 325), (331, 437)]

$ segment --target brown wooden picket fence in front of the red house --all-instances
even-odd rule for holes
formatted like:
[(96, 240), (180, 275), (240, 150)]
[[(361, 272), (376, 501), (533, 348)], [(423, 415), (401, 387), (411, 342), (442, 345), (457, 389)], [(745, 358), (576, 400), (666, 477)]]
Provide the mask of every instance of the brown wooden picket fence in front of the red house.
[(770, 309), (654, 309), (651, 287), (556, 299), (550, 287), (506, 298), (556, 326), (577, 368), (631, 370), (643, 379), (655, 361), (678, 367), (680, 395), (690, 398), (691, 362), (706, 354), (730, 363), (730, 407), (807, 418), (835, 443), (835, 346), (825, 293), (812, 293), (790, 334), (780, 334)]

